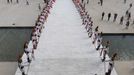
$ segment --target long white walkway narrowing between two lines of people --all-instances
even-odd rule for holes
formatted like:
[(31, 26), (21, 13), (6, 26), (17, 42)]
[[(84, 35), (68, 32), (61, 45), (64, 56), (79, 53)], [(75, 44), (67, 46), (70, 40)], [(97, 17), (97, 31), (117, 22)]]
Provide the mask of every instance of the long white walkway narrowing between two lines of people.
[(106, 67), (81, 23), (72, 0), (57, 0), (28, 75), (104, 75)]

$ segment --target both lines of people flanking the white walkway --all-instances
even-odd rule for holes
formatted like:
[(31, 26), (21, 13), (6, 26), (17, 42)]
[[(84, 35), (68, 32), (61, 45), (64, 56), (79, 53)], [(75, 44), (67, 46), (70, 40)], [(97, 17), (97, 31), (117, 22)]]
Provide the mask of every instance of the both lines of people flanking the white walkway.
[[(44, 0), (45, 1), (45, 0)], [(109, 46), (110, 46), (110, 42), (107, 41), (105, 46), (102, 46), (102, 32), (99, 33), (99, 26), (97, 26), (95, 29), (93, 29), (93, 21), (92, 21), (92, 17), (90, 17), (90, 15), (88, 14), (88, 12), (85, 9), (85, 5), (83, 5), (81, 2), (79, 2), (80, 0), (73, 0), (80, 16), (82, 19), (82, 25), (85, 27), (89, 38), (92, 39), (92, 44), (96, 45), (96, 51), (100, 52), (100, 56), (102, 57), (102, 62), (109, 62), (109, 67), (107, 69), (107, 71), (105, 72), (105, 75), (111, 75), (111, 71), (114, 67), (114, 60), (117, 57), (117, 53), (113, 54), (113, 56), (110, 58), (110, 60), (106, 60), (106, 55), (108, 54), (108, 50), (109, 50)], [(84, 1), (84, 0), (82, 0)], [(25, 66), (30, 65), (30, 63), (32, 62), (32, 60), (35, 59), (34, 57), (34, 53), (35, 50), (37, 49), (37, 45), (39, 43), (39, 38), (41, 36), (42, 33), (42, 29), (44, 28), (44, 23), (47, 20), (48, 15), (50, 14), (50, 9), (52, 8), (53, 3), (55, 2), (55, 0), (49, 0), (48, 2), (46, 2), (46, 6), (43, 8), (43, 11), (41, 12), (41, 14), (38, 16), (38, 19), (36, 21), (36, 24), (32, 30), (31, 33), (31, 42), (30, 41), (26, 41), (24, 44), (24, 53), (26, 54), (27, 57), (27, 61), (24, 61), (22, 59), (22, 55), (19, 55), (18, 57), (18, 67), (20, 69), (20, 71), (22, 72), (22, 75), (26, 75), (26, 71), (25, 71)], [(89, 0), (87, 0), (87, 2), (89, 2)], [(102, 14), (102, 20), (104, 18), (105, 13), (103, 12)], [(109, 14), (110, 16), (111, 14)], [(117, 18), (117, 14), (115, 14), (114, 20), (116, 21)], [(108, 18), (108, 20), (110, 20), (110, 17)], [(27, 64), (25, 64), (25, 62)]]

